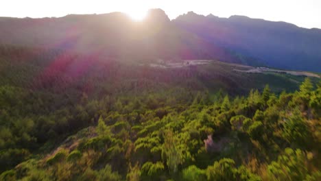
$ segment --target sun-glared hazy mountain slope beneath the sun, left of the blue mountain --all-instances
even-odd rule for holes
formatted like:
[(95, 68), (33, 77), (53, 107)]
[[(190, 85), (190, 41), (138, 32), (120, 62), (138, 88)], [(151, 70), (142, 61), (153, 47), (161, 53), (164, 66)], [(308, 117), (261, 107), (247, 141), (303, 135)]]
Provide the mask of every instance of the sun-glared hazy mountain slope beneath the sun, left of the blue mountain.
[(0, 19), (0, 43), (65, 49), (123, 60), (217, 59), (239, 62), (204, 38), (172, 23), (163, 10), (150, 10), (143, 22), (125, 14), (68, 15), (45, 19)]

